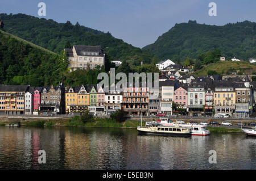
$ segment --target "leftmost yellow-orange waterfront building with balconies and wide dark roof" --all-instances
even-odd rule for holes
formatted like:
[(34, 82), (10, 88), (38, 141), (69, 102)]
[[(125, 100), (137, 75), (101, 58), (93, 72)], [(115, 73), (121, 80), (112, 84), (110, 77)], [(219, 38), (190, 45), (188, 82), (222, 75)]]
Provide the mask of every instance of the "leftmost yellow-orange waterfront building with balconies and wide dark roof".
[(25, 93), (28, 86), (0, 86), (0, 114), (24, 114)]

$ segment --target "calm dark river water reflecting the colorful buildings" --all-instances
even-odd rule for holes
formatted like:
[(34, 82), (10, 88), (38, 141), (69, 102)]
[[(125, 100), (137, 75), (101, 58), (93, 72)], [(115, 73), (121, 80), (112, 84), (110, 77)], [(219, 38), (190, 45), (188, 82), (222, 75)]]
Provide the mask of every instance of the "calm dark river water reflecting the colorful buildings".
[[(38, 151), (46, 151), (46, 164)], [(209, 163), (216, 150), (217, 163)], [(0, 169), (256, 169), (256, 138), (140, 136), (136, 129), (0, 127)]]

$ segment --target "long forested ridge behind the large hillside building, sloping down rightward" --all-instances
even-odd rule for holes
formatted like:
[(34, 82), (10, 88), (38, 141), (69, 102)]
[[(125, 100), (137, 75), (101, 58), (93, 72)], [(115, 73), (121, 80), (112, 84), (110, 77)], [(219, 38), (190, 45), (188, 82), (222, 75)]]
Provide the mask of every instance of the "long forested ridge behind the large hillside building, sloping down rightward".
[(116, 39), (109, 32), (93, 30), (80, 26), (79, 23), (57, 23), (52, 19), (36, 18), (26, 14), (0, 14), (0, 20), (5, 23), (6, 32), (55, 53), (60, 53), (68, 44), (100, 45), (113, 59), (133, 60), (135, 65), (139, 65), (141, 61), (158, 61), (152, 54)]

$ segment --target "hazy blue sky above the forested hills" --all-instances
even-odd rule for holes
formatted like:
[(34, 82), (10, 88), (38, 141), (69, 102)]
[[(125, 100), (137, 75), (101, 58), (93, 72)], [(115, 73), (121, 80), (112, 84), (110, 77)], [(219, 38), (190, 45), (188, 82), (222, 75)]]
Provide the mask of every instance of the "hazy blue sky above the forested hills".
[[(38, 4), (46, 4), (39, 16)], [(216, 3), (216, 16), (209, 16), (209, 3)], [(176, 23), (196, 20), (200, 24), (224, 25), (256, 22), (256, 0), (1, 0), (0, 13), (36, 16), (110, 32), (134, 47), (152, 44)]]

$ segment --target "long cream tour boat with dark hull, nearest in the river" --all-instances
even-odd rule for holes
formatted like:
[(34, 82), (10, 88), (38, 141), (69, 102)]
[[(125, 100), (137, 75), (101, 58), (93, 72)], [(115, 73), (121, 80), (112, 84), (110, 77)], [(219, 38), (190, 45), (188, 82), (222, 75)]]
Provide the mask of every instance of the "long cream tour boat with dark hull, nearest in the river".
[(179, 124), (172, 127), (164, 126), (159, 123), (146, 123), (145, 127), (138, 127), (141, 134), (157, 134), (164, 136), (191, 136), (190, 128), (181, 128)]

